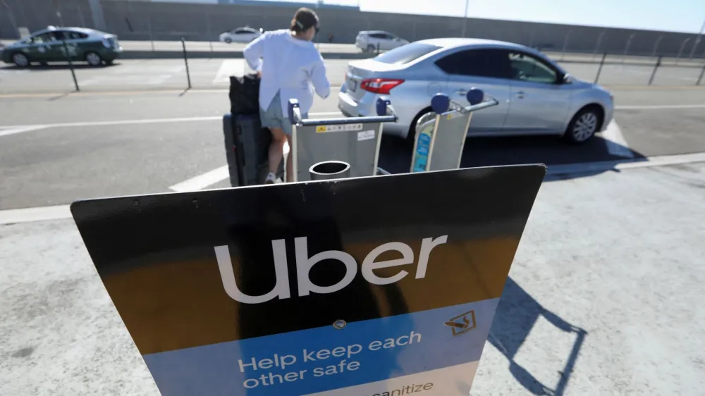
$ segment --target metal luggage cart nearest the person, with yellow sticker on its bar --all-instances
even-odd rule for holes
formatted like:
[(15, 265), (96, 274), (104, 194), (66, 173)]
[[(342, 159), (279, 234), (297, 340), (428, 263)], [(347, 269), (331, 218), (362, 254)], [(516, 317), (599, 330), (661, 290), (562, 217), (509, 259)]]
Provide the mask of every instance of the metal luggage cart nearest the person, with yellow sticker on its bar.
[(290, 99), (288, 117), (293, 132), (289, 160), (293, 161), (293, 181), (311, 180), (309, 169), (324, 161), (349, 163), (351, 178), (377, 175), (382, 125), (396, 122), (397, 117), (386, 98), (377, 99), (376, 112), (377, 116), (370, 117), (304, 120), (298, 100)]

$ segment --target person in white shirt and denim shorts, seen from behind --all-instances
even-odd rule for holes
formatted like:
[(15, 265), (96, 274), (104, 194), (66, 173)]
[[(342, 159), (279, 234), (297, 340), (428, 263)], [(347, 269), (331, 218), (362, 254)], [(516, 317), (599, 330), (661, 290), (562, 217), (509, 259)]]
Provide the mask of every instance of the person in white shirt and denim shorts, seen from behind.
[[(291, 124), (286, 114), (289, 99), (298, 99), (302, 116), (313, 105), (314, 92), (326, 99), (331, 83), (323, 57), (311, 42), (319, 30), (319, 19), (309, 8), (299, 8), (288, 29), (266, 32), (245, 47), (243, 55), (253, 70), (262, 68), (259, 84), (259, 118), (271, 131), (269, 175), (265, 184), (276, 180), (284, 142), (291, 147)], [(286, 181), (293, 180), (291, 161), (286, 161)]]

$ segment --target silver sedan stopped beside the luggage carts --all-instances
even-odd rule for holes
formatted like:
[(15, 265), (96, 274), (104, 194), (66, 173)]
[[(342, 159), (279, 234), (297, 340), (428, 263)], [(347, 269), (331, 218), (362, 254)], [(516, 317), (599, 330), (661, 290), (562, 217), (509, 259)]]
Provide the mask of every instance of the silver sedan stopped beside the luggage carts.
[(338, 108), (345, 116), (374, 115), (376, 99), (388, 97), (398, 122), (385, 124), (384, 132), (412, 139), (434, 94), (467, 106), (471, 88), (499, 106), (474, 114), (468, 136), (559, 135), (582, 143), (613, 118), (606, 89), (573, 78), (539, 51), (485, 39), (422, 40), (350, 62)]

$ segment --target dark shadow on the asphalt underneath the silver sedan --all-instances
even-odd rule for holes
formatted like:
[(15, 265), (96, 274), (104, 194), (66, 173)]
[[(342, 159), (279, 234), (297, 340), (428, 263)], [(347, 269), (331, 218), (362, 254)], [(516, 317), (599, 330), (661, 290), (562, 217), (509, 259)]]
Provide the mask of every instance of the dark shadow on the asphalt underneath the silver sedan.
[[(384, 137), (379, 166), (390, 173), (407, 173), (411, 164), (411, 151), (411, 145), (404, 140)], [(600, 135), (580, 145), (568, 144), (554, 136), (474, 137), (465, 140), (460, 167), (545, 163), (551, 173), (551, 178), (546, 178), (546, 181), (551, 181), (597, 175), (614, 169), (617, 163), (634, 161), (646, 161), (646, 157), (628, 147), (605, 140)], [(580, 170), (580, 163), (595, 162), (603, 164), (594, 169), (586, 167), (584, 171)], [(571, 168), (565, 174), (560, 174), (568, 165), (577, 165), (578, 169)]]

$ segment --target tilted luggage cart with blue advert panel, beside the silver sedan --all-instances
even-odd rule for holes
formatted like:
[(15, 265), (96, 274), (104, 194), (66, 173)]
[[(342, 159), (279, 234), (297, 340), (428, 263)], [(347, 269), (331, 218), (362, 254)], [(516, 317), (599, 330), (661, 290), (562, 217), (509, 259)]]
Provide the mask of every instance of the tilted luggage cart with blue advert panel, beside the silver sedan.
[(434, 112), (416, 123), (411, 173), (460, 168), (472, 113), (499, 104), (496, 99), (484, 101), (482, 89), (472, 88), (466, 97), (470, 106), (451, 101), (446, 94), (431, 98)]

